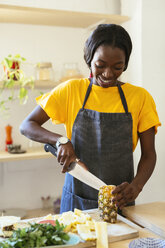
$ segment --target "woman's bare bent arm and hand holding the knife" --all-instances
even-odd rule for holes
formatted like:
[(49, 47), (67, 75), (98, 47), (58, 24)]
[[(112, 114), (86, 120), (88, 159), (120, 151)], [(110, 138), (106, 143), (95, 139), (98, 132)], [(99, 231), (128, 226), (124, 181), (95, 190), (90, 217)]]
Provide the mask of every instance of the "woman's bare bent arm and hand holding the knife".
[[(61, 135), (42, 127), (42, 125), (49, 119), (50, 118), (46, 112), (40, 106), (37, 106), (22, 122), (20, 132), (34, 141), (54, 145)], [(67, 172), (69, 165), (74, 162), (76, 158), (71, 142), (59, 147), (57, 151), (57, 161), (62, 165), (62, 173)], [(86, 165), (81, 161), (79, 161), (79, 164), (87, 169)]]

